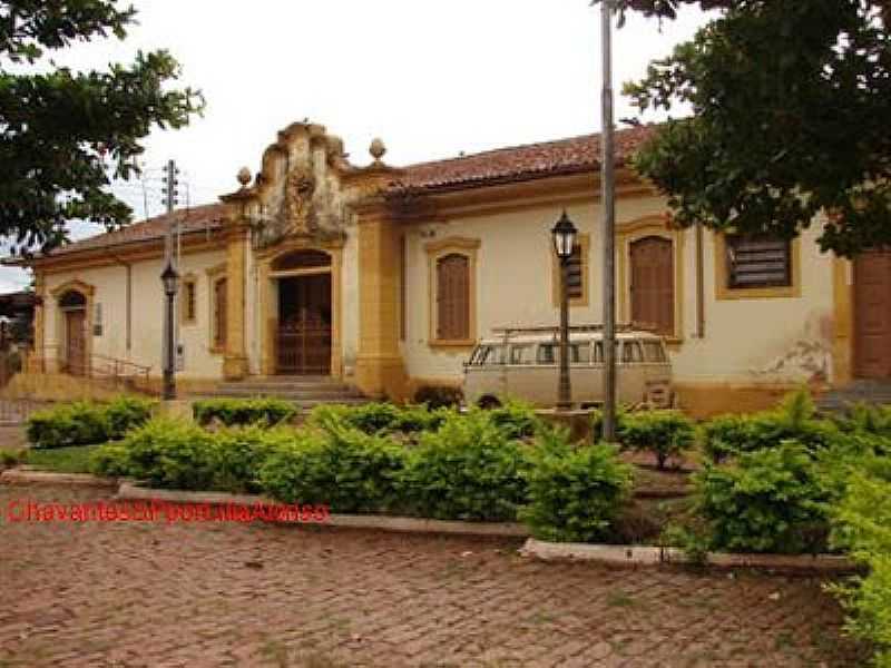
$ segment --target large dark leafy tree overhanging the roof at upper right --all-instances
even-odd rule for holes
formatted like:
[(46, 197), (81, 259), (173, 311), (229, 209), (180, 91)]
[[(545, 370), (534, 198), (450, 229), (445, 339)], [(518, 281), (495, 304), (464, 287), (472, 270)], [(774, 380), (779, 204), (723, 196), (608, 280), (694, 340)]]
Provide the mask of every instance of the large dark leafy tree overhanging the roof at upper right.
[(823, 210), (823, 249), (891, 244), (891, 0), (615, 0), (682, 4), (718, 11), (625, 87), (642, 112), (693, 110), (636, 157), (676, 220), (790, 237)]

